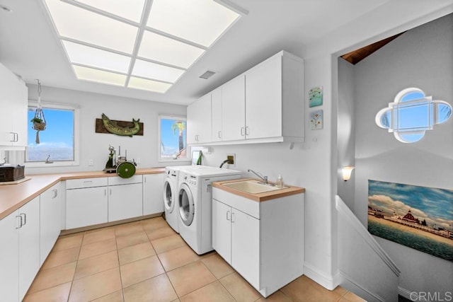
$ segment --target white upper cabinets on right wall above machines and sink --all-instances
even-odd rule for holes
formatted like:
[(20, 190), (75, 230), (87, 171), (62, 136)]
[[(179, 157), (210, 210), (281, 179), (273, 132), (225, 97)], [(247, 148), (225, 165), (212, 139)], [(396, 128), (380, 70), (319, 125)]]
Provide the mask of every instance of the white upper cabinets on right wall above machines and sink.
[[(210, 95), (212, 144), (304, 141), (304, 62), (293, 54), (279, 52)], [(192, 110), (188, 109), (188, 132), (190, 125), (207, 119)], [(200, 142), (209, 141), (189, 144)]]

